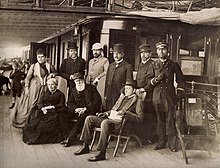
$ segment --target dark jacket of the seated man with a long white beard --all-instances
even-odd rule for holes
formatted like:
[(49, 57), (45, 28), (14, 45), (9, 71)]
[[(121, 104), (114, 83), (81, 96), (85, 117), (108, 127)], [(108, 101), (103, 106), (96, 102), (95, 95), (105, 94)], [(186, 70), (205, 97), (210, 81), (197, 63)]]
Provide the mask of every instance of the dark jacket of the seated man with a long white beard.
[[(88, 115), (92, 115), (100, 112), (102, 100), (96, 87), (90, 84), (86, 84), (84, 93), (85, 93), (85, 101), (86, 101), (85, 104), (87, 108), (86, 113)], [(75, 109), (79, 108), (79, 104), (81, 104), (80, 101), (82, 100), (79, 97), (76, 88), (74, 87), (71, 91), (70, 98), (67, 102), (68, 110), (74, 114)]]

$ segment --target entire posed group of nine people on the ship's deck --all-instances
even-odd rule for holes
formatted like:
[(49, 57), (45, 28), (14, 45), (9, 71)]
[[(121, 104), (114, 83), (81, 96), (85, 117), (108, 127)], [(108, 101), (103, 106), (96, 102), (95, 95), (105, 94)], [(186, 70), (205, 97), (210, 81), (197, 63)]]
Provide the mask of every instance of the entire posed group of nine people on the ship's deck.
[[(155, 150), (166, 148), (168, 144), (170, 150), (176, 152), (176, 96), (184, 92), (185, 82), (179, 65), (169, 58), (168, 44), (158, 42), (156, 49), (158, 59), (152, 60), (150, 45), (139, 47), (141, 62), (136, 80), (132, 65), (124, 59), (123, 44), (114, 44), (114, 62), (109, 63), (102, 45), (95, 43), (88, 71), (74, 42), (68, 43), (69, 57), (64, 59), (59, 72), (46, 62), (45, 51), (39, 49), (37, 63), (28, 70), (24, 93), (14, 108), (13, 124), (23, 128), (23, 141), (27, 144), (60, 142), (69, 147), (81, 140), (83, 147), (74, 153), (81, 155), (89, 153), (93, 128), (101, 127), (98, 154), (88, 160), (105, 160), (108, 136), (121, 125), (121, 121), (109, 118), (111, 111), (117, 111), (117, 115), (126, 118), (125, 130), (132, 132), (140, 127), (143, 142), (152, 142), (157, 124)], [(57, 75), (67, 80), (67, 105), (58, 89)], [(103, 77), (105, 106), (97, 90)]]

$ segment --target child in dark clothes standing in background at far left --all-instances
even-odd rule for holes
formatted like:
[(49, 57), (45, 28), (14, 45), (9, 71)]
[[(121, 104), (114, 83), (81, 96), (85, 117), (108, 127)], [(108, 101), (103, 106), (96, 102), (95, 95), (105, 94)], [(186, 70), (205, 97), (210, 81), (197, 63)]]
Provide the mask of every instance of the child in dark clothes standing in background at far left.
[(22, 91), (22, 83), (21, 81), (24, 80), (25, 74), (19, 69), (19, 65), (17, 62), (13, 62), (12, 64), (12, 71), (9, 74), (9, 78), (12, 80), (11, 82), (11, 94), (12, 94), (12, 103), (9, 107), (12, 109), (15, 106), (16, 96), (21, 97)]

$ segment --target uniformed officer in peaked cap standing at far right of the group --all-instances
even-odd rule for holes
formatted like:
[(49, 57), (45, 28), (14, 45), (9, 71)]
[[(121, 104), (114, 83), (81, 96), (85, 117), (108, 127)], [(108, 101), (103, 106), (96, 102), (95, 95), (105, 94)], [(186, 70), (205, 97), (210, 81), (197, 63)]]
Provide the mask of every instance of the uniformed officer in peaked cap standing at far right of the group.
[(156, 44), (158, 60), (151, 64), (149, 77), (151, 78), (146, 91), (153, 90), (153, 105), (157, 116), (158, 145), (155, 150), (166, 148), (177, 151), (175, 128), (175, 105), (177, 95), (174, 88), (174, 76), (177, 82), (177, 94), (184, 91), (185, 81), (178, 63), (172, 61), (168, 55), (168, 44)]

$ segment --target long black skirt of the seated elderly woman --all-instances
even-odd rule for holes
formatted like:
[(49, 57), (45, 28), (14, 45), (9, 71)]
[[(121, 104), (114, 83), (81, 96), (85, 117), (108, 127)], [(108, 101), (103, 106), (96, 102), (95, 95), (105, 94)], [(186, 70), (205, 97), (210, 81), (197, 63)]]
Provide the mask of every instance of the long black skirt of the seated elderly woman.
[(43, 114), (34, 106), (28, 116), (23, 129), (23, 141), (32, 144), (55, 143), (62, 139), (62, 128), (58, 113), (53, 110)]

